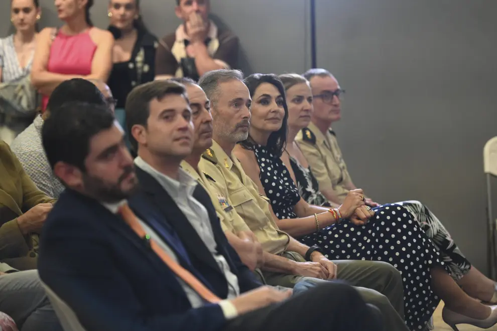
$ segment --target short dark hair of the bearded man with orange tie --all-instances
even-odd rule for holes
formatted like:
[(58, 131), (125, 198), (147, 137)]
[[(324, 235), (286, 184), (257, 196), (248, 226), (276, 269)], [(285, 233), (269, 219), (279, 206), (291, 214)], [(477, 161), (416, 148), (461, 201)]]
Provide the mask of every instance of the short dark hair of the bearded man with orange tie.
[(65, 162), (85, 171), (91, 138), (109, 129), (114, 115), (105, 105), (68, 102), (51, 113), (42, 127), (42, 142), (50, 167)]

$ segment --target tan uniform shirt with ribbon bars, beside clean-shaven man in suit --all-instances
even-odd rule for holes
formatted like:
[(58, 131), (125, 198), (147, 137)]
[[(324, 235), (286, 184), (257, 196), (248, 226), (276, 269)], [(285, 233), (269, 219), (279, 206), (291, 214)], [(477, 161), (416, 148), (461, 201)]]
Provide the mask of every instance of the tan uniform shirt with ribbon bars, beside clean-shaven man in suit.
[(187, 161), (181, 162), (181, 168), (190, 174), (209, 193), (223, 231), (229, 231), (234, 234), (241, 231), (251, 231), (236, 213), (233, 204), (229, 200), (227, 191), (222, 186), (218, 185), (213, 178), (210, 178), (204, 172), (197, 172)]

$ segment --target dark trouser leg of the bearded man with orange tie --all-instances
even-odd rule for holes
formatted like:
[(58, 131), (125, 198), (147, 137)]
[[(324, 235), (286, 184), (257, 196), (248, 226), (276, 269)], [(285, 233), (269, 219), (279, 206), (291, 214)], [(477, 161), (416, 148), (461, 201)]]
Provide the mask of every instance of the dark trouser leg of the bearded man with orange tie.
[(378, 312), (358, 292), (344, 284), (326, 282), (290, 299), (238, 316), (224, 331), (370, 330), (380, 331)]

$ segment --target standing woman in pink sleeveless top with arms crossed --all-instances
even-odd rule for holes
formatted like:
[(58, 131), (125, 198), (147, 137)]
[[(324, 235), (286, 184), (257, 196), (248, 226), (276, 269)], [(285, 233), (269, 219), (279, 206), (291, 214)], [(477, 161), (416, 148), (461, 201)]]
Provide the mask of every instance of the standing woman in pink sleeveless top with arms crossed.
[(45, 28), (38, 37), (32, 84), (43, 94), (45, 110), (52, 91), (72, 78), (107, 81), (112, 68), (114, 38), (93, 27), (90, 8), (94, 0), (55, 0), (60, 29)]

